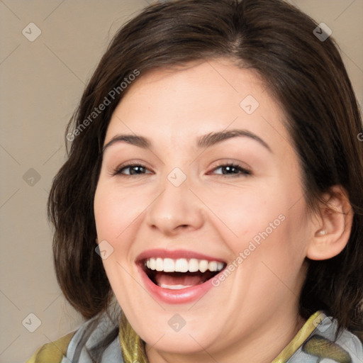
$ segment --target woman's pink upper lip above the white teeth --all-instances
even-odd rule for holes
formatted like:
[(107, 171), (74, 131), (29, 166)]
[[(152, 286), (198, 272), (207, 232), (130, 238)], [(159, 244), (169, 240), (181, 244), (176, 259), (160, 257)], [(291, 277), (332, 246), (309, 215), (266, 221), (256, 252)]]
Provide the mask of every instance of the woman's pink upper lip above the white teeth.
[(199, 252), (194, 252), (194, 251), (190, 251), (190, 250), (165, 250), (163, 248), (153, 248), (151, 250), (146, 250), (146, 251), (140, 253), (140, 255), (138, 255), (138, 257), (136, 257), (136, 262), (141, 262), (145, 259), (149, 259), (152, 257), (154, 257), (154, 258), (157, 258), (157, 257), (171, 258), (171, 259), (195, 258), (195, 259), (206, 259), (207, 261), (217, 261), (217, 262), (225, 263), (225, 261), (223, 259), (220, 259), (218, 257), (204, 255)]

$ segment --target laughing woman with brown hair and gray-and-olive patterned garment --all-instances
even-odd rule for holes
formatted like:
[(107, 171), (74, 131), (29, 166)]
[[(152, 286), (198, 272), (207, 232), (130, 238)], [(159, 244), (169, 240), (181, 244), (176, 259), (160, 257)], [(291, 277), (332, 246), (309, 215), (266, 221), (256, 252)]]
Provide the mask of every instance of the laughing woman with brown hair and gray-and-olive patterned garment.
[(293, 6), (147, 7), (50, 192), (57, 279), (87, 321), (29, 362), (362, 362), (360, 133), (333, 40)]

